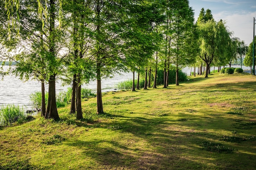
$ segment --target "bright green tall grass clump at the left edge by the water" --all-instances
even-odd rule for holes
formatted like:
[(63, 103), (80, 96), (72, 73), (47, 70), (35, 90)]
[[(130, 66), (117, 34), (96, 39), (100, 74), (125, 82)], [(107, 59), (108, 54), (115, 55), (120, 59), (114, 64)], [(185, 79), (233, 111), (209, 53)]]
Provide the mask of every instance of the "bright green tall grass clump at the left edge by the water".
[(25, 119), (25, 112), (23, 108), (8, 104), (2, 105), (0, 108), (0, 125), (8, 125), (15, 121)]

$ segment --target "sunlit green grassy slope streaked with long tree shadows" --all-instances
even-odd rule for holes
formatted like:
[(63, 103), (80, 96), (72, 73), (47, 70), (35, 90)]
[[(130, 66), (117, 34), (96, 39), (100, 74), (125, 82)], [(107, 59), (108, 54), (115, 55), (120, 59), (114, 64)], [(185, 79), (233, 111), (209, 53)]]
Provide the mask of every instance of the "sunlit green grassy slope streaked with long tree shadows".
[[(0, 128), (0, 165), (19, 160), (51, 170), (254, 170), (256, 77), (209, 77), (168, 89), (107, 93), (106, 115), (95, 115), (96, 98), (89, 99), (82, 103), (84, 121), (62, 108), (59, 122), (38, 117)], [(205, 141), (235, 150), (203, 150)]]

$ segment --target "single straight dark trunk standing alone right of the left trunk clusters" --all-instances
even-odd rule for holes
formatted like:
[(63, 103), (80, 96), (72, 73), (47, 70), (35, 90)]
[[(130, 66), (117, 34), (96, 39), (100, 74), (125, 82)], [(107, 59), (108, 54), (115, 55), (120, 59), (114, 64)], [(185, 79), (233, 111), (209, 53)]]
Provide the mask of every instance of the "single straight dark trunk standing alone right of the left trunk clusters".
[(97, 62), (97, 113), (103, 113), (103, 103), (101, 95), (101, 71)]

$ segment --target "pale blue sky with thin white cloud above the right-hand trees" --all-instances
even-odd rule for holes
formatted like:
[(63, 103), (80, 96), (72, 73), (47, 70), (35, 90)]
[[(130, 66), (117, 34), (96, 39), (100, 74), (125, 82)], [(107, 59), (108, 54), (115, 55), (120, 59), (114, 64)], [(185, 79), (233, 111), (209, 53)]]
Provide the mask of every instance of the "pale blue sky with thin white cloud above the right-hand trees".
[(229, 31), (234, 33), (233, 37), (244, 40), (248, 46), (252, 42), (256, 0), (189, 0), (189, 5), (194, 9), (195, 20), (202, 8), (205, 11), (210, 9), (214, 20), (226, 21)]

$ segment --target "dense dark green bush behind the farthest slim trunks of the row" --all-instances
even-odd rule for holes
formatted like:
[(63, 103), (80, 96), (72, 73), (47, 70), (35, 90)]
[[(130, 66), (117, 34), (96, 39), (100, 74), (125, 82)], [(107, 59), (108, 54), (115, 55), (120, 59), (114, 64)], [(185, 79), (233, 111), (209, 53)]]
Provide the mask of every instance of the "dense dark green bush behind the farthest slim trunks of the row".
[[(186, 73), (183, 73), (181, 70), (179, 70), (179, 82), (186, 82), (186, 80), (187, 80)], [(176, 82), (176, 71), (170, 70), (168, 75), (168, 84), (175, 84), (175, 82)], [(158, 70), (157, 85), (161, 85), (161, 84), (164, 84), (164, 71)]]

